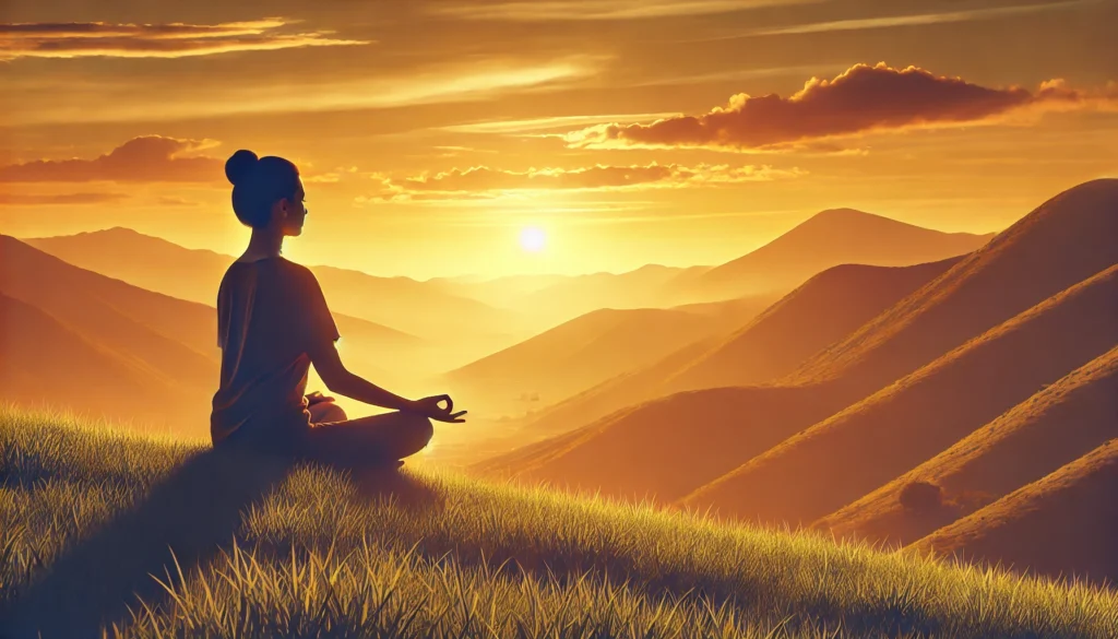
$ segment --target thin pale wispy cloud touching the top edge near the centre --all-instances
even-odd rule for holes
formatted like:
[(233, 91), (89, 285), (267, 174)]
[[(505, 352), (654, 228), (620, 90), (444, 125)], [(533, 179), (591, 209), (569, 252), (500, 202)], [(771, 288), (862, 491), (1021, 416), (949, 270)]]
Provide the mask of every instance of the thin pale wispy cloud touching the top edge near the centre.
[(758, 7), (808, 4), (824, 0), (542, 0), (539, 2), (454, 2), (427, 11), (466, 20), (534, 22), (552, 20), (632, 20), (730, 13)]

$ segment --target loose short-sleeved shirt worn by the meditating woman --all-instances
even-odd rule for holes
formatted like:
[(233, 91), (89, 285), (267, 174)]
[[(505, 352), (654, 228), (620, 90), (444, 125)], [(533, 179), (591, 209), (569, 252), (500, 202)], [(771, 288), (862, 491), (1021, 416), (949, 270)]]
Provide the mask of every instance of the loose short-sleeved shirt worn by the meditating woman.
[(229, 265), (217, 295), (221, 383), (210, 438), (285, 439), (310, 427), (310, 353), (339, 339), (319, 281), (281, 256)]

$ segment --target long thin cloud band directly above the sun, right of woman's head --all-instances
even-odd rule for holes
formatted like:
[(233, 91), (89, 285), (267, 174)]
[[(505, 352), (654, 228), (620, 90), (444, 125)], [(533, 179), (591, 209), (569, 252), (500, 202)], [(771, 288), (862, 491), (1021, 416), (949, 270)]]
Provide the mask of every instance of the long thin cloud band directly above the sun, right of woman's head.
[(451, 169), (395, 179), (373, 175), (380, 190), (361, 196), (358, 204), (372, 201), (419, 201), (432, 199), (492, 199), (524, 191), (618, 190), (722, 186), (769, 181), (803, 175), (799, 169), (774, 169), (769, 166), (730, 167), (728, 165), (597, 165), (577, 169), (529, 169), (509, 171), (490, 167)]

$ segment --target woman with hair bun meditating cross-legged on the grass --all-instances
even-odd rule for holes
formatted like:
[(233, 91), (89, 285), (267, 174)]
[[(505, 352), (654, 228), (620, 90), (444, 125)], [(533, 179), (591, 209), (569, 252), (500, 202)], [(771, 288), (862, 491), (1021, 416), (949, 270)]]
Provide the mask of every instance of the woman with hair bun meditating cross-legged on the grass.
[[(463, 422), (448, 395), (406, 400), (350, 373), (319, 282), (281, 255), (306, 217), (299, 169), (248, 150), (225, 165), (233, 209), (253, 229), (245, 254), (229, 265), (217, 297), (221, 385), (214, 395), (214, 445), (239, 444), (345, 464), (397, 462), (427, 445), (430, 420)], [(311, 364), (326, 387), (396, 412), (347, 420), (332, 397), (305, 396)], [(440, 405), (446, 402), (446, 407)]]

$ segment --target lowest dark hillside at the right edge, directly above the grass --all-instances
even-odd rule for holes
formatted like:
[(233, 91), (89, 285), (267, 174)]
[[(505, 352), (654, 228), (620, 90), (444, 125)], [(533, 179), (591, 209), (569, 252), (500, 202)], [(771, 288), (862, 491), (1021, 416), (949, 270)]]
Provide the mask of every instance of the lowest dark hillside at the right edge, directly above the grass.
[(1118, 580), (1118, 439), (913, 544), (1030, 574)]

